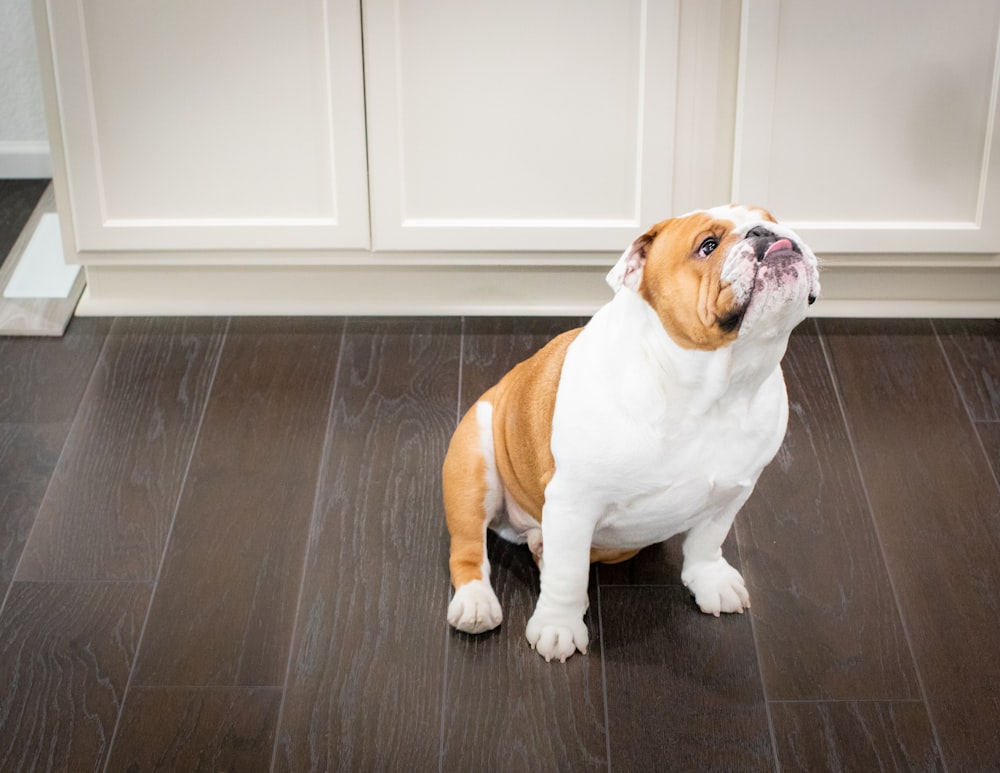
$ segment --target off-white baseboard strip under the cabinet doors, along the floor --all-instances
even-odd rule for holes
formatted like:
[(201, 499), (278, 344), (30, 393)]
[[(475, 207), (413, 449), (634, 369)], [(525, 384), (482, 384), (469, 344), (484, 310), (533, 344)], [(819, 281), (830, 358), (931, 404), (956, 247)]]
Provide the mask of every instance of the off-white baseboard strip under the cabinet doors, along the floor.
[[(588, 315), (604, 266), (88, 266), (84, 316)], [(1000, 317), (998, 267), (827, 266), (823, 317)]]

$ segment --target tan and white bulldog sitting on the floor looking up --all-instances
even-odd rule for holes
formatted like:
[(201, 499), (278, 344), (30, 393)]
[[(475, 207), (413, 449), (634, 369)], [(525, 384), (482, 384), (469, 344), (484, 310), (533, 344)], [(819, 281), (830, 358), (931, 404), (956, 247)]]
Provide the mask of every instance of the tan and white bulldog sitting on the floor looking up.
[(780, 361), (819, 294), (812, 251), (742, 206), (653, 226), (608, 282), (615, 296), (586, 327), (476, 402), (444, 462), (448, 622), (469, 633), (500, 624), (491, 528), (536, 557), (527, 637), (546, 660), (586, 652), (591, 561), (625, 560), (681, 532), (681, 579), (701, 610), (749, 607), (722, 543), (781, 445)]

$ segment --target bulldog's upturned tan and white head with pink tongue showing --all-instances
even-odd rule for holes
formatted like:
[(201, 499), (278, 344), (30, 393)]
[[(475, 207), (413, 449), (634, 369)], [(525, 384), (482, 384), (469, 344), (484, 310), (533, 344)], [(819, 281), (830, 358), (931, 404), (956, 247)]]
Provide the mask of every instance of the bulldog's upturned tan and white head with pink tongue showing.
[(703, 350), (787, 335), (819, 295), (812, 250), (767, 211), (735, 205), (657, 223), (608, 282), (638, 292), (679, 346)]

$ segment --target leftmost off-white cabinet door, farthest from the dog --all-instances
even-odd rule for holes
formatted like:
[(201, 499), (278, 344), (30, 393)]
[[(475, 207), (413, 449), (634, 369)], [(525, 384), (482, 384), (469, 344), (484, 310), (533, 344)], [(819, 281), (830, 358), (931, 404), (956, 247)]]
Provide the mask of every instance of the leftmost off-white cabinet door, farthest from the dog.
[(44, 2), (79, 250), (368, 246), (356, 1)]

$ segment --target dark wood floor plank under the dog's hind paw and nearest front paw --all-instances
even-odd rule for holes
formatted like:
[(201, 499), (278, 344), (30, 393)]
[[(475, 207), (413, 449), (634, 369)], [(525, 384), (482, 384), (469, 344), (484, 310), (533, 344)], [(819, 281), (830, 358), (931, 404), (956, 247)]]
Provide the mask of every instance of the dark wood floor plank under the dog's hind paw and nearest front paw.
[[(462, 342), (462, 411), (521, 360), (578, 319), (467, 320)], [(504, 611), (497, 631), (450, 632), (444, 770), (607, 767), (595, 572), (588, 615), (591, 649), (546, 665), (524, 629), (538, 598), (528, 549), (491, 534), (492, 580)]]

